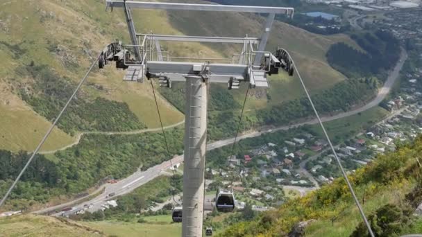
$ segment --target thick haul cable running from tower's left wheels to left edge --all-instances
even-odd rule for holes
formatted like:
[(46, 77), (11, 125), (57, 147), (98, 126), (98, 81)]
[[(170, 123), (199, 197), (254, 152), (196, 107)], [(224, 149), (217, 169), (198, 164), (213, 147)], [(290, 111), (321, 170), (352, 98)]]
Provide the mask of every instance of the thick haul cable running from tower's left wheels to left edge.
[(74, 91), (74, 94), (72, 94), (70, 96), (69, 100), (67, 100), (67, 103), (65, 104), (65, 107), (63, 107), (62, 111), (60, 111), (60, 114), (58, 114), (57, 118), (54, 120), (54, 122), (51, 125), (51, 127), (49, 128), (49, 130), (47, 130), (47, 133), (42, 138), (40, 144), (38, 144), (37, 148), (35, 148), (34, 152), (31, 155), (31, 157), (26, 162), (24, 168), (22, 168), (21, 173), (19, 173), (19, 175), (17, 175), (17, 178), (15, 179), (15, 182), (13, 182), (12, 186), (10, 186), (10, 188), (8, 189), (6, 195), (4, 195), (3, 199), (0, 200), (0, 207), (6, 201), (6, 199), (8, 198), (8, 196), (10, 195), (10, 193), (12, 192), (13, 188), (15, 188), (17, 182), (19, 182), (19, 179), (24, 174), (26, 168), (28, 168), (29, 164), (31, 164), (31, 161), (34, 159), (35, 155), (37, 155), (38, 151), (40, 150), (40, 148), (42, 147), (42, 145), (44, 144), (44, 142), (47, 140), (47, 138), (49, 137), (49, 135), (53, 131), (53, 128), (56, 126), (56, 123), (58, 122), (58, 120), (60, 119), (60, 117), (62, 116), (62, 114), (65, 112), (65, 110), (67, 109), (67, 107), (69, 106), (71, 100), (73, 100), (73, 98), (78, 93), (79, 89), (81, 89), (81, 87), (83, 85), (83, 82), (85, 82), (85, 80), (87, 79), (88, 75), (90, 74), (90, 72), (94, 68), (96, 62), (99, 60), (99, 57), (100, 57), (100, 55), (96, 58), (95, 62), (92, 63), (90, 69), (87, 71), (87, 73), (85, 74), (85, 76), (82, 78), (81, 82), (79, 82), (78, 87), (76, 87), (76, 89)]

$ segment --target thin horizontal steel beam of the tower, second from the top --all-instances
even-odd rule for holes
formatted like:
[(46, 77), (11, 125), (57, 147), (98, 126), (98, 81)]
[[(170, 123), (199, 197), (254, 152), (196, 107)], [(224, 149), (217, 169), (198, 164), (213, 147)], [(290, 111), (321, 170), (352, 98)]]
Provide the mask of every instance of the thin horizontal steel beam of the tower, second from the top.
[(256, 37), (211, 37), (211, 36), (189, 36), (189, 35), (148, 35), (137, 34), (141, 37), (154, 37), (156, 40), (173, 41), (173, 42), (204, 42), (204, 43), (228, 43), (228, 44), (244, 44), (252, 42), (259, 44), (260, 39)]

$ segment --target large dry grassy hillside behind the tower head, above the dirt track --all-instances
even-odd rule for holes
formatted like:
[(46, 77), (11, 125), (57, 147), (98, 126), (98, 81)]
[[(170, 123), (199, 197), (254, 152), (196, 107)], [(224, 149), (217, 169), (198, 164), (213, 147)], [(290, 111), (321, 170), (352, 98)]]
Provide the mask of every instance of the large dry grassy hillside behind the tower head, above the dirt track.
[[(103, 1), (12, 0), (1, 3), (1, 8), (0, 121), (4, 125), (0, 128), (0, 148), (32, 150), (96, 52), (115, 38), (128, 42), (128, 34), (121, 10), (105, 12)], [(138, 31), (178, 35), (244, 36), (250, 33), (259, 36), (263, 21), (254, 15), (227, 13), (212, 17), (202, 12), (134, 10), (133, 15)], [(193, 20), (199, 24), (190, 24)], [(308, 85), (313, 91), (319, 91), (345, 79), (325, 58), (329, 46), (336, 42), (355, 46), (346, 35), (319, 36), (277, 23), (269, 49), (276, 46), (291, 49), (298, 64), (303, 65)], [(163, 47), (176, 55), (216, 58), (234, 52), (226, 46), (203, 44), (163, 44)], [(65, 114), (58, 125), (60, 130), (53, 132), (42, 150), (65, 146), (76, 139), (72, 136), (85, 130), (158, 127), (150, 86), (122, 82), (121, 78), (122, 72), (112, 67), (95, 70), (78, 97), (81, 100), (76, 105), (72, 103), (74, 109)], [(49, 88), (50, 85), (54, 87)], [(224, 86), (221, 89), (221, 93), (228, 94)], [(243, 93), (236, 91), (233, 94), (236, 103), (240, 103)], [(271, 78), (269, 94), (274, 98), (271, 101), (258, 92), (248, 107), (255, 109), (297, 98), (301, 96), (301, 90), (296, 78), (280, 76)], [(183, 114), (164, 98), (160, 97), (159, 103), (164, 125), (182, 121)], [(95, 116), (86, 113), (93, 107), (96, 108)], [(106, 108), (110, 107), (112, 111), (105, 115)], [(106, 120), (107, 117), (110, 118)]]

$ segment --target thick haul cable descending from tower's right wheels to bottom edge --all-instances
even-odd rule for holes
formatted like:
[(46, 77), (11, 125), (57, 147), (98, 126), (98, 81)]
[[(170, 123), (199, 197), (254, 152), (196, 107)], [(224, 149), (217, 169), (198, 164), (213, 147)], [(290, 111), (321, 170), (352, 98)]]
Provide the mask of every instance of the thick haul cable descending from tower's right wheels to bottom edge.
[[(285, 49), (283, 49), (283, 50), (284, 50), (284, 51), (286, 51)], [(306, 94), (307, 99), (309, 100), (309, 102), (310, 102), (310, 104), (311, 104), (311, 106), (312, 106), (312, 109), (314, 110), (314, 113), (315, 113), (316, 119), (318, 119), (319, 125), (321, 125), (321, 128), (322, 128), (322, 130), (323, 130), (323, 133), (324, 133), (324, 135), (326, 136), (326, 139), (327, 139), (328, 143), (330, 144), (330, 147), (331, 147), (332, 153), (333, 153), (333, 155), (335, 156), (335, 159), (337, 160), (337, 163), (338, 163), (339, 168), (340, 168), (340, 170), (341, 170), (341, 174), (343, 175), (344, 180), (346, 180), (346, 183), (347, 183), (348, 189), (351, 191), (351, 194), (352, 194), (353, 200), (355, 200), (355, 203), (356, 203), (357, 209), (359, 209), (359, 211), (360, 211), (360, 215), (362, 216), (362, 219), (363, 219), (363, 220), (364, 220), (364, 222), (365, 222), (366, 228), (368, 229), (369, 234), (370, 234), (372, 237), (374, 237), (373, 231), (372, 231), (372, 229), (371, 229), (371, 225), (369, 225), (369, 222), (368, 222), (368, 220), (366, 219), (365, 213), (364, 213), (364, 211), (363, 211), (363, 209), (362, 209), (362, 206), (360, 205), (359, 200), (357, 200), (357, 198), (356, 198), (355, 191), (353, 191), (352, 184), (351, 184), (351, 182), (348, 180), (348, 177), (347, 177), (346, 171), (344, 171), (344, 168), (343, 168), (343, 166), (341, 165), (341, 161), (340, 161), (339, 157), (337, 156), (337, 152), (335, 151), (334, 146), (332, 146), (332, 143), (331, 143), (330, 137), (328, 136), (328, 133), (327, 133), (327, 131), (326, 131), (326, 128), (324, 127), (324, 125), (323, 125), (323, 123), (322, 123), (322, 121), (321, 121), (321, 118), (319, 117), (318, 112), (316, 111), (315, 105), (314, 105), (314, 103), (312, 102), (312, 98), (311, 98), (311, 96), (310, 96), (310, 94), (309, 94), (309, 92), (307, 91), (307, 88), (306, 88), (306, 86), (305, 86), (305, 82), (303, 82), (302, 77), (301, 77), (301, 74), (299, 73), (299, 71), (298, 71), (298, 69), (297, 69), (297, 67), (296, 67), (296, 63), (294, 62), (294, 60), (293, 60), (292, 56), (289, 54), (289, 52), (288, 52), (288, 51), (286, 51), (286, 53), (287, 53), (287, 55), (289, 56), (289, 58), (292, 60), (292, 63), (293, 63), (293, 66), (294, 66), (294, 70), (296, 71), (296, 73), (298, 73), (298, 78), (299, 78), (299, 80), (301, 80), (301, 84), (302, 84), (303, 90), (305, 90), (305, 94)]]

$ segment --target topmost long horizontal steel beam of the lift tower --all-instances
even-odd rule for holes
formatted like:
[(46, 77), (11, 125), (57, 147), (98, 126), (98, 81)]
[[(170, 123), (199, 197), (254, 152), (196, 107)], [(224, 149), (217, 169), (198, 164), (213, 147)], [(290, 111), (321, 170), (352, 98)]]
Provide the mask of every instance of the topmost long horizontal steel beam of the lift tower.
[[(110, 8), (121, 8), (123, 0), (106, 0), (105, 4)], [(255, 12), (293, 15), (294, 8), (276, 8), (261, 6), (231, 6), (193, 3), (155, 3), (144, 1), (126, 1), (130, 8), (158, 9), (158, 10), (201, 10), (213, 12)]]

